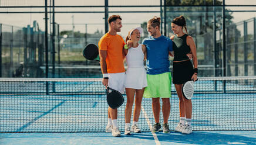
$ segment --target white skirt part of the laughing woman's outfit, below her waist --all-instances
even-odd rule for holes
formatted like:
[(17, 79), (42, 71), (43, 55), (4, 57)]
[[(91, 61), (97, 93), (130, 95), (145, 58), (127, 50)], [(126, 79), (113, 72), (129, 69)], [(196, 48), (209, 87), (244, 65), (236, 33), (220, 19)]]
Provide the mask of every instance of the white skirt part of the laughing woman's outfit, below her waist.
[(124, 87), (132, 89), (142, 89), (147, 87), (147, 74), (145, 68), (127, 68)]

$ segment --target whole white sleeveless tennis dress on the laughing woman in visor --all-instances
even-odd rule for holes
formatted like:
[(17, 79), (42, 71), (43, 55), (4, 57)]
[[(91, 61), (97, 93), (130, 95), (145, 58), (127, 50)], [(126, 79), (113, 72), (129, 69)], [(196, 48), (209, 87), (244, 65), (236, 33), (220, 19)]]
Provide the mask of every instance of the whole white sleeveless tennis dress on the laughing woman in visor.
[(143, 60), (142, 44), (128, 50), (126, 55), (127, 71), (124, 84), (125, 88), (142, 89), (147, 87), (147, 75)]

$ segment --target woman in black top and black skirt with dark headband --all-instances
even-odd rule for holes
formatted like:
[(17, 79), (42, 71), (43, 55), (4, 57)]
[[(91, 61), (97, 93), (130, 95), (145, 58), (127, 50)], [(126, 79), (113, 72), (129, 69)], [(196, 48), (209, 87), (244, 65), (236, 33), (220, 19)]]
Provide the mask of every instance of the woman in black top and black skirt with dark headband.
[[(186, 30), (186, 33), (183, 32), (183, 29)], [(174, 44), (173, 84), (180, 100), (180, 122), (175, 131), (190, 134), (192, 133), (192, 102), (191, 99), (184, 98), (181, 89), (186, 81), (197, 80), (196, 44), (193, 38), (187, 34), (186, 20), (183, 16), (173, 19), (171, 30), (175, 34), (171, 36)], [(188, 58), (188, 53), (192, 53), (193, 64)]]

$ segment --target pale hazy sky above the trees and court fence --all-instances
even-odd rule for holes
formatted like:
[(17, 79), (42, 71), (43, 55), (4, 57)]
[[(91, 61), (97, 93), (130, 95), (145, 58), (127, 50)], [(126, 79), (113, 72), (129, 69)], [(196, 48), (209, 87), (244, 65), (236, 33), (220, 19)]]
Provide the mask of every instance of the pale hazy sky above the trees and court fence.
[[(50, 1), (50, 0), (48, 0)], [(104, 5), (105, 0), (80, 1), (80, 0), (55, 0), (55, 5)], [(255, 0), (246, 0), (241, 4), (241, 0), (225, 0), (226, 5), (256, 5)], [(1, 6), (5, 5), (44, 5), (42, 0), (23, 0), (23, 1), (0, 1)], [(109, 5), (160, 5), (160, 1), (156, 0), (109, 0)], [(255, 7), (229, 7), (230, 10), (255, 10)], [(6, 11), (44, 11), (44, 8), (26, 8), (11, 9), (0, 8), (0, 12)], [(104, 11), (104, 8), (55, 8), (55, 11)], [(160, 11), (160, 8), (109, 8), (109, 11)], [(140, 23), (147, 22), (153, 16), (160, 16), (160, 13), (109, 13), (120, 14), (122, 16), (122, 36), (126, 36), (127, 32), (133, 27), (140, 26)], [(0, 23), (24, 27), (36, 20), (39, 27), (44, 30), (44, 13), (0, 13)], [(73, 16), (73, 19), (72, 19)], [(256, 17), (256, 12), (234, 12), (233, 21), (241, 22)], [(94, 33), (97, 29), (105, 32), (104, 13), (56, 13), (55, 22), (60, 24), (60, 31), (72, 30), (72, 23), (75, 23), (75, 31), (85, 33), (87, 23), (87, 33)], [(68, 24), (68, 25), (67, 25)], [(50, 29), (50, 28), (49, 28)]]

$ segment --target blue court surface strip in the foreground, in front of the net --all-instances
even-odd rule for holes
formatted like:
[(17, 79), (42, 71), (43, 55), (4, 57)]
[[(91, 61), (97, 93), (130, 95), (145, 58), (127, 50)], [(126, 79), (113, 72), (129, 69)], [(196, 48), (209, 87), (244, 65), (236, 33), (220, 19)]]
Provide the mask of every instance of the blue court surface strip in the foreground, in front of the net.
[(111, 133), (2, 133), (0, 144), (256, 144), (255, 131), (151, 132), (112, 137)]

